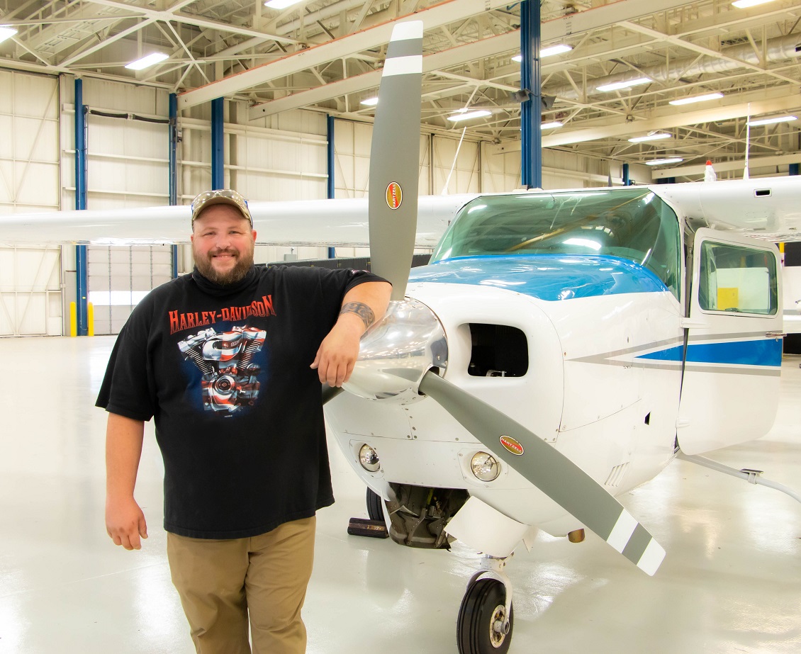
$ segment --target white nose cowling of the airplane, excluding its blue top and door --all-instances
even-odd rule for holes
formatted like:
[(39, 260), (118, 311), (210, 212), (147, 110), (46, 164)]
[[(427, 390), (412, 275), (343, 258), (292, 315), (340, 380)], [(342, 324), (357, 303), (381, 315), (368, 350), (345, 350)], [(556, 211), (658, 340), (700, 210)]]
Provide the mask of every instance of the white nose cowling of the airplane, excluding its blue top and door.
[[(582, 360), (598, 352), (647, 351), (658, 341), (678, 343), (682, 318), (670, 293), (559, 303), (497, 287), (411, 283), (408, 295), (436, 307), (448, 337), (445, 379), (553, 443), (614, 495), (670, 463), (681, 371), (638, 367), (631, 356), (627, 362)], [(525, 374), (471, 375), (470, 323), (521, 330), (527, 342)], [(465, 488), (513, 520), (553, 535), (581, 528), (570, 519), (549, 528), (565, 512), (509, 466), (501, 464), (492, 482), (477, 479), (470, 462), (486, 447), (432, 399), (390, 407), (343, 394), (327, 415), (353, 469), (384, 498), (388, 482)], [(358, 463), (364, 443), (378, 452), (380, 471), (365, 471)]]

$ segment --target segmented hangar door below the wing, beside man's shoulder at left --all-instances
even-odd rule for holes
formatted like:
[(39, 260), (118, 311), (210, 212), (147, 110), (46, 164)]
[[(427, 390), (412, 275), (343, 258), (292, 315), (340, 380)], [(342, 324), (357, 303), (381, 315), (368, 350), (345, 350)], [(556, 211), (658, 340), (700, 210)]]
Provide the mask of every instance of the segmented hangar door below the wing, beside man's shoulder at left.
[(95, 334), (119, 334), (147, 292), (171, 279), (168, 245), (87, 247), (89, 302), (95, 307)]

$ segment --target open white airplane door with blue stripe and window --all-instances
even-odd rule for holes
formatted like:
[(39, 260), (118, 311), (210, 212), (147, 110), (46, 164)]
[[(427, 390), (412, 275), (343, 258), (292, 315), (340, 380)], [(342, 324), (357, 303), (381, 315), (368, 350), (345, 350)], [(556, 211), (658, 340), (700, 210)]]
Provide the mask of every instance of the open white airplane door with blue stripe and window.
[(773, 426), (782, 365), (779, 251), (773, 243), (699, 229), (678, 443), (700, 454)]

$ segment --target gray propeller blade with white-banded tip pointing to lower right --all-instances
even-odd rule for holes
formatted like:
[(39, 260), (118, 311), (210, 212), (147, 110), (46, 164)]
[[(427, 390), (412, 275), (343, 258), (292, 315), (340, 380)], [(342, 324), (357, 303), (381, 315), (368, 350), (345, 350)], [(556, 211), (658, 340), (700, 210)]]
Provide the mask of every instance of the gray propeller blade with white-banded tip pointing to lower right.
[(432, 371), (425, 373), (420, 391), (643, 572), (657, 571), (665, 558), (662, 546), (618, 500), (555, 447)]

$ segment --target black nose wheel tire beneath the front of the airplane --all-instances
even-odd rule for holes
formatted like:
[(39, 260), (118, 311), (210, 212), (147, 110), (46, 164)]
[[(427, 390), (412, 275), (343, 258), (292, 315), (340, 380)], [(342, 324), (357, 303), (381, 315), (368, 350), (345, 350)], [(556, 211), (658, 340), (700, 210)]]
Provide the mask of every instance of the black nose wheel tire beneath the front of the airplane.
[(509, 632), (493, 629), (505, 602), (506, 589), (498, 580), (483, 577), (467, 589), (456, 625), (459, 654), (506, 654), (512, 642), (513, 607), (509, 608)]

